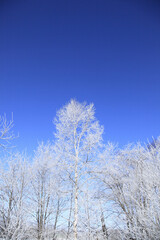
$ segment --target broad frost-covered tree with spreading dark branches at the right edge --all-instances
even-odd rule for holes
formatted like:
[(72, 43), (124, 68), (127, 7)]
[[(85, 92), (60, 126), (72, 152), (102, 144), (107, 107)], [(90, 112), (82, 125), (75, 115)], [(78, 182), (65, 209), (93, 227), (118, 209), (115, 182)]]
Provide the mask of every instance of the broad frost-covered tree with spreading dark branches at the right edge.
[[(110, 148), (98, 173), (122, 239), (159, 239), (160, 144)], [(123, 231), (122, 231), (123, 230)], [(120, 238), (120, 239), (121, 239)]]

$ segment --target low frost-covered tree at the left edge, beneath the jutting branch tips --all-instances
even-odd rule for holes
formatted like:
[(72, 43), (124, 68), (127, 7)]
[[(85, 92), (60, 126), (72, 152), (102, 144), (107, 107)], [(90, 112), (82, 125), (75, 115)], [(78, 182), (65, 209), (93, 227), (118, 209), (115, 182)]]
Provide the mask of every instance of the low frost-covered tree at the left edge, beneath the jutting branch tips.
[(0, 169), (0, 238), (27, 238), (28, 166), (26, 157), (14, 154)]

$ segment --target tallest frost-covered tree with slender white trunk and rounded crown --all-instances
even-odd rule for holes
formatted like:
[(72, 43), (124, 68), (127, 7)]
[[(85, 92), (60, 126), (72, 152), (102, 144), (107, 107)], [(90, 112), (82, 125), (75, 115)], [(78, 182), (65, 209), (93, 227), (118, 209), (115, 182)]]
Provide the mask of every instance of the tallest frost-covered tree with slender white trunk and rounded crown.
[(103, 127), (95, 118), (94, 105), (71, 100), (55, 118), (56, 153), (74, 187), (74, 239), (78, 239), (78, 198), (88, 166), (101, 145)]

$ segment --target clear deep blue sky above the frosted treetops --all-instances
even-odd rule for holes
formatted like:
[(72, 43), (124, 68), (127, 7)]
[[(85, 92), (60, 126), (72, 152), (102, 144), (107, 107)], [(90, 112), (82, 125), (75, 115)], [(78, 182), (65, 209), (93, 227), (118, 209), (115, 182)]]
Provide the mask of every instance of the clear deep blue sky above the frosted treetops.
[(0, 1), (0, 114), (17, 147), (52, 140), (71, 98), (95, 104), (105, 141), (160, 135), (160, 1)]

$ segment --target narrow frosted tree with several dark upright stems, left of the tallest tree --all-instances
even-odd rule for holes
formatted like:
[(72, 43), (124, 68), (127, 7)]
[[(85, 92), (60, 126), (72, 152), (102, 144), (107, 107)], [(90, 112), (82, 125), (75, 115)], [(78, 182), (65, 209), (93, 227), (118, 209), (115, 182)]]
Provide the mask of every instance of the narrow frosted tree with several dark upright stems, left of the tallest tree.
[(30, 182), (29, 210), (33, 222), (33, 237), (38, 240), (56, 239), (58, 220), (63, 206), (60, 179), (53, 146), (39, 144), (35, 151)]

